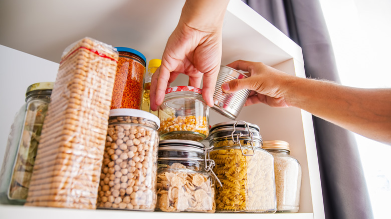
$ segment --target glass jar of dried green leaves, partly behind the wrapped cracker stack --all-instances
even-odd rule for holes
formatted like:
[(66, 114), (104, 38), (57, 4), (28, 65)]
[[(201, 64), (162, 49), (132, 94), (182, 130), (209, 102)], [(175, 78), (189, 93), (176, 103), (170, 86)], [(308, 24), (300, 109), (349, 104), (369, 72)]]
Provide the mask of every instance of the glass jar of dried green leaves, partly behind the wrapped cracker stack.
[(15, 116), (0, 172), (0, 202), (24, 204), (33, 173), (42, 125), (50, 102), (53, 82), (27, 88), (26, 103)]

